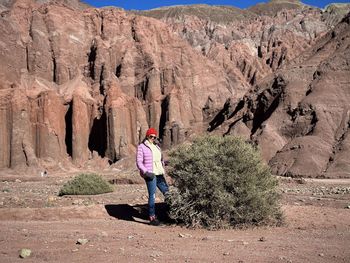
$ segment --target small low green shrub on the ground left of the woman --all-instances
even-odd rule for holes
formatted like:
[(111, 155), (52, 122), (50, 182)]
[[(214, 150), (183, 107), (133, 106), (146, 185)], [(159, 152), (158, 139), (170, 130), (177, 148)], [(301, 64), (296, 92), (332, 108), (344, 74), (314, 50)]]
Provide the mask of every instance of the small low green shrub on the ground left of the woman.
[(58, 195), (97, 195), (113, 192), (113, 187), (97, 174), (80, 174), (64, 184)]

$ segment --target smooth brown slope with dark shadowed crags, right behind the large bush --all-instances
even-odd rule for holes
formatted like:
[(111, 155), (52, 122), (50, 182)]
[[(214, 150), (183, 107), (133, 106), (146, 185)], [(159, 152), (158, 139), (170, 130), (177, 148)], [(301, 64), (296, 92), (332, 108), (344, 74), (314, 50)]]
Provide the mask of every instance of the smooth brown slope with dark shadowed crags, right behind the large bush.
[(350, 177), (350, 15), (308, 51), (226, 103), (210, 130), (255, 141), (275, 174)]

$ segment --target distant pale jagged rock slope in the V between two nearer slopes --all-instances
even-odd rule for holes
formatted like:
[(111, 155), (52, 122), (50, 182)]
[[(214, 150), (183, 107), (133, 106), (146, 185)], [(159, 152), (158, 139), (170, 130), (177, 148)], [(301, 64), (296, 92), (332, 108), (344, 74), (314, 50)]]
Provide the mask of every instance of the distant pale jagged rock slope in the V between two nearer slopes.
[(340, 21), (344, 10), (350, 11), (350, 6), (333, 5), (322, 12), (300, 1), (274, 0), (247, 10), (196, 5), (141, 14), (168, 23), (228, 75), (254, 85), (310, 48)]

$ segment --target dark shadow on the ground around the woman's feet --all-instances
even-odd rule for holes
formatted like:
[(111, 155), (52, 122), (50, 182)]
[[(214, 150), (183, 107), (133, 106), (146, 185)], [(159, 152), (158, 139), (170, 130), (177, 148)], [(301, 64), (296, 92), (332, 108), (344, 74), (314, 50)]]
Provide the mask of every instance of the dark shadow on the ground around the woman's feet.
[[(129, 204), (108, 204), (105, 205), (106, 211), (110, 216), (119, 220), (134, 221), (141, 224), (148, 224), (148, 205), (129, 205)], [(166, 203), (156, 203), (157, 217), (163, 224), (172, 224), (173, 220), (169, 217), (169, 207)]]

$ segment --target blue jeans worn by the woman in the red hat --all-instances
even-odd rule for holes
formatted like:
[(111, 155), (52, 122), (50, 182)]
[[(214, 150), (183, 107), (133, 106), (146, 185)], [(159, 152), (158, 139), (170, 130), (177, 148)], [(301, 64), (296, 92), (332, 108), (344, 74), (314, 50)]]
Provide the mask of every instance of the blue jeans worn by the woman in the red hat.
[(145, 179), (148, 190), (148, 212), (149, 216), (156, 214), (156, 190), (157, 187), (165, 195), (169, 191), (169, 186), (165, 181), (164, 175), (157, 175), (152, 180)]

